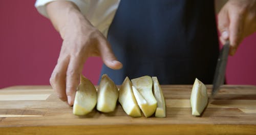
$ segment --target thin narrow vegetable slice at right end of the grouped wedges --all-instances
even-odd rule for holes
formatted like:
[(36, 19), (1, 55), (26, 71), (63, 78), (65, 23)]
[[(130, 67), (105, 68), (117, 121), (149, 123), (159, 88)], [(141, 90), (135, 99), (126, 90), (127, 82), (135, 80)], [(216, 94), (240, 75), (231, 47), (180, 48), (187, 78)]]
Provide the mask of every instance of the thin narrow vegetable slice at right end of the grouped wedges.
[(157, 100), (157, 109), (155, 112), (155, 117), (166, 117), (166, 111), (165, 111), (165, 100), (163, 97), (163, 91), (161, 89), (161, 86), (158, 82), (157, 77), (152, 77), (153, 80), (153, 92), (154, 92), (154, 96)]

